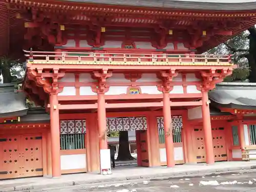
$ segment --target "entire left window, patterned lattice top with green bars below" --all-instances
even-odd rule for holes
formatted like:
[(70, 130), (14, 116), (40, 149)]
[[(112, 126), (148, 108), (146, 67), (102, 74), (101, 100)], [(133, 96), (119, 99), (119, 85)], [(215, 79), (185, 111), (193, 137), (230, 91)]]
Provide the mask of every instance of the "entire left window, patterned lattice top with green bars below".
[(86, 120), (60, 121), (60, 150), (86, 148)]

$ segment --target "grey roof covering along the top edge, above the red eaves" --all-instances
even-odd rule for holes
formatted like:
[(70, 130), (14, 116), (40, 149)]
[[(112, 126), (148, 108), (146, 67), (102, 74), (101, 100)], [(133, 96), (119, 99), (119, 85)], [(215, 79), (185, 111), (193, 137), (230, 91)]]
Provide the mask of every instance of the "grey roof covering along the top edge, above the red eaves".
[[(106, 5), (120, 5), (120, 6), (136, 6), (148, 8), (170, 8), (170, 9), (186, 9), (186, 10), (216, 10), (216, 11), (242, 11), (242, 10), (256, 10), (256, 1), (239, 3), (229, 3), (228, 0), (216, 3), (216, 1), (172, 1), (172, 0), (65, 0), (66, 2), (76, 3), (93, 3), (93, 4), (106, 4)], [(56, 2), (65, 2), (56, 0)]]

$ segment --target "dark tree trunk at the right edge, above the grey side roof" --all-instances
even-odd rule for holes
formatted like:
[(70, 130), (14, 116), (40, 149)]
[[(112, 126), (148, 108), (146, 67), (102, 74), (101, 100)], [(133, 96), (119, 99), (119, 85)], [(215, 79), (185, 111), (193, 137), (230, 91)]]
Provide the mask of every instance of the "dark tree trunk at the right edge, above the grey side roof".
[(256, 28), (249, 29), (249, 54), (246, 56), (250, 66), (249, 81), (256, 82)]

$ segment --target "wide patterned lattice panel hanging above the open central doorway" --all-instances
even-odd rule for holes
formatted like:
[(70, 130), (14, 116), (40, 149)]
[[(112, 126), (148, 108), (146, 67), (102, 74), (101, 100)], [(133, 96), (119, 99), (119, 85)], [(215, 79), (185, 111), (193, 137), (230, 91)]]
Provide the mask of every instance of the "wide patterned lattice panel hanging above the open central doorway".
[(106, 128), (108, 132), (146, 130), (146, 117), (107, 118)]

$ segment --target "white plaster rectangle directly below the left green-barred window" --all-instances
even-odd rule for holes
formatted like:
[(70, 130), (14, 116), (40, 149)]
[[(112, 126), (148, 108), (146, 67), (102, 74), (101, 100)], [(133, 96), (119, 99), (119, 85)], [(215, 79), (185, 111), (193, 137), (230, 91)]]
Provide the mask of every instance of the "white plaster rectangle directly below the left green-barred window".
[(87, 168), (86, 154), (61, 155), (60, 167), (61, 170)]

